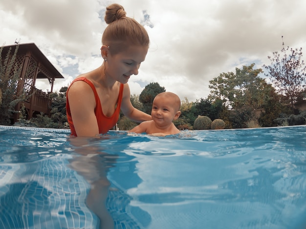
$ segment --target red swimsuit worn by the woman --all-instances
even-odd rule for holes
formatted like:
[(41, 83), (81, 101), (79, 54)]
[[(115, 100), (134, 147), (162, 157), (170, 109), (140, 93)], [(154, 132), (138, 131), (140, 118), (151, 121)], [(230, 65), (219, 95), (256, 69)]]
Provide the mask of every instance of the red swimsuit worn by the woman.
[[(97, 94), (96, 88), (94, 87), (93, 83), (85, 77), (76, 78), (75, 80), (72, 81), (72, 83), (74, 83), (75, 81), (78, 81), (78, 80), (82, 80), (82, 81), (86, 82), (91, 87), (91, 89), (94, 93), (95, 100), (96, 100), (96, 108), (94, 110), (94, 113), (97, 117), (97, 122), (98, 122), (98, 126), (99, 126), (99, 134), (107, 133), (112, 127), (114, 127), (116, 125), (116, 123), (119, 119), (119, 113), (120, 113), (120, 107), (121, 107), (124, 85), (122, 83), (120, 84), (120, 90), (119, 90), (119, 96), (118, 96), (118, 100), (117, 100), (116, 110), (115, 110), (113, 115), (108, 117), (108, 116), (105, 116), (103, 114), (101, 102), (100, 102), (99, 96)], [(70, 84), (70, 86), (71, 86), (71, 84)], [(69, 88), (68, 88), (68, 90), (69, 90)], [(70, 107), (69, 107), (68, 90), (67, 90), (67, 93), (66, 93), (67, 120), (68, 120), (68, 123), (69, 123), (69, 126), (70, 126), (71, 135), (77, 136), (77, 134), (75, 132), (75, 129), (74, 129), (74, 125), (73, 125), (73, 121), (72, 121), (72, 117), (71, 117), (71, 112), (70, 112)]]

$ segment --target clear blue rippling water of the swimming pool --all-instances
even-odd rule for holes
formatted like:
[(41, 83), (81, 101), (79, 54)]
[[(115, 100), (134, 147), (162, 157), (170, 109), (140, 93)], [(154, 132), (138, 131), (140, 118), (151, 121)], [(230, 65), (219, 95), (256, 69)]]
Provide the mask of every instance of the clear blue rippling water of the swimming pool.
[(305, 229), (306, 126), (179, 136), (0, 127), (0, 229)]

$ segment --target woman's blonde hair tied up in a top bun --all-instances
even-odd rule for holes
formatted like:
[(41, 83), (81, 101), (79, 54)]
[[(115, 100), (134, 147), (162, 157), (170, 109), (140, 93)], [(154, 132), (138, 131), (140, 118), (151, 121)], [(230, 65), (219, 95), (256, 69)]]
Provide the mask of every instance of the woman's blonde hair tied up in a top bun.
[(108, 26), (103, 32), (102, 44), (109, 46), (112, 51), (123, 51), (128, 45), (149, 46), (146, 29), (135, 19), (126, 17), (122, 5), (114, 3), (106, 7), (104, 19)]

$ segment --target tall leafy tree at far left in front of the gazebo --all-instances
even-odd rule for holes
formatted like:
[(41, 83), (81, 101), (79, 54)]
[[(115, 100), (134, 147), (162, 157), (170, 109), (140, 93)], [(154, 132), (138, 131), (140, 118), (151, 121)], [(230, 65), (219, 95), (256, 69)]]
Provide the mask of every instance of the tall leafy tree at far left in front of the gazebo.
[[(2, 59), (3, 46), (0, 47), (0, 124), (10, 125), (10, 118), (15, 111), (15, 106), (24, 100), (24, 95), (17, 95), (17, 86), (20, 78), (21, 67), (16, 64), (19, 45), (16, 46), (12, 54), (12, 48), (9, 48)], [(3, 55), (4, 56), (4, 55)]]

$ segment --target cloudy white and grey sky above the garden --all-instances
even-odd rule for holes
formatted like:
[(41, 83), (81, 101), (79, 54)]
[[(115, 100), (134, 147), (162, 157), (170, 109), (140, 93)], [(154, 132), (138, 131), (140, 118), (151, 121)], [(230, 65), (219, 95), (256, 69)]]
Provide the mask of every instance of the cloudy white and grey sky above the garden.
[[(1, 0), (0, 44), (34, 42), (65, 77), (55, 81), (59, 91), (102, 64), (111, 3), (123, 5), (150, 36), (146, 60), (129, 80), (135, 95), (158, 82), (181, 100), (196, 101), (221, 73), (271, 64), (267, 57), (281, 51), (282, 36), (285, 47), (306, 48), (305, 0)], [(36, 86), (50, 89), (47, 81)]]

